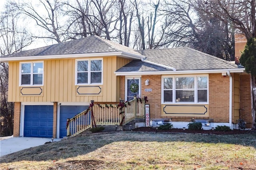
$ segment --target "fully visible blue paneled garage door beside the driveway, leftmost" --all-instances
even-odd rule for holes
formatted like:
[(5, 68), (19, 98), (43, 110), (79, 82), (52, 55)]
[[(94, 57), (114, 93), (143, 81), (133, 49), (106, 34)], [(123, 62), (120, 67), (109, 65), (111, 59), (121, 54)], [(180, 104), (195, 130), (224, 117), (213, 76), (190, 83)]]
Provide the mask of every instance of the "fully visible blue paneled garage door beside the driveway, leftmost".
[(53, 106), (25, 106), (24, 137), (51, 138), (53, 126)]

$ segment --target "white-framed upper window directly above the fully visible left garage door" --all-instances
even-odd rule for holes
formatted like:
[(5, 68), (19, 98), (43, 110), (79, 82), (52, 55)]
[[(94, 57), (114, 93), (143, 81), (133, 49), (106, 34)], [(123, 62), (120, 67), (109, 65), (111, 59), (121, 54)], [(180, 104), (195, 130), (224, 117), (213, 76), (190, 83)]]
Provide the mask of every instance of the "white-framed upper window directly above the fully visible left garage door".
[(20, 63), (20, 85), (43, 85), (43, 74), (42, 61)]

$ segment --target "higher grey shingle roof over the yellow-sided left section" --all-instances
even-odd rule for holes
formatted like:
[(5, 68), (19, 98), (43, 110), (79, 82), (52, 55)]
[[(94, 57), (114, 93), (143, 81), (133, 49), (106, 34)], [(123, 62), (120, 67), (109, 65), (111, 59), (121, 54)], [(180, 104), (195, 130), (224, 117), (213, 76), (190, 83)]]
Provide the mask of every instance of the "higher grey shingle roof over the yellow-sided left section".
[(142, 56), (134, 49), (124, 45), (114, 43), (112, 41), (100, 38), (98, 36), (90, 36), (68, 42), (49, 45), (22, 51), (3, 57), (28, 57), (28, 56), (41, 56), (41, 55), (63, 55), (63, 54), (79, 54), (79, 53), (104, 53), (122, 51), (134, 55)]

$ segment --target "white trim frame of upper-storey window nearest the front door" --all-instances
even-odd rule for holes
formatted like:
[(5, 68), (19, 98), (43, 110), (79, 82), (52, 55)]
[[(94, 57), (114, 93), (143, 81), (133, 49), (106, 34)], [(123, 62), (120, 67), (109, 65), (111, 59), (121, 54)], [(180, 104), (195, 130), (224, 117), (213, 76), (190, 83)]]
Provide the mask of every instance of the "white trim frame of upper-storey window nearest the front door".
[[(101, 60), (101, 83), (89, 83), (91, 81), (91, 60)], [(88, 83), (77, 83), (77, 63), (78, 61), (88, 61)], [(102, 85), (103, 84), (103, 58), (76, 59), (75, 85)]]

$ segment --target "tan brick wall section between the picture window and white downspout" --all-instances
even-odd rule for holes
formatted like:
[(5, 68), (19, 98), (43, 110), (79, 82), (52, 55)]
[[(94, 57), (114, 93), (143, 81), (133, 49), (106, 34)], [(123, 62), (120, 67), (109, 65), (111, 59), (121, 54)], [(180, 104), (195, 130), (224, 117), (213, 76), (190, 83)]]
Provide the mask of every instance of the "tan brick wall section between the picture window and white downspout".
[(209, 74), (209, 118), (229, 122), (229, 77)]

